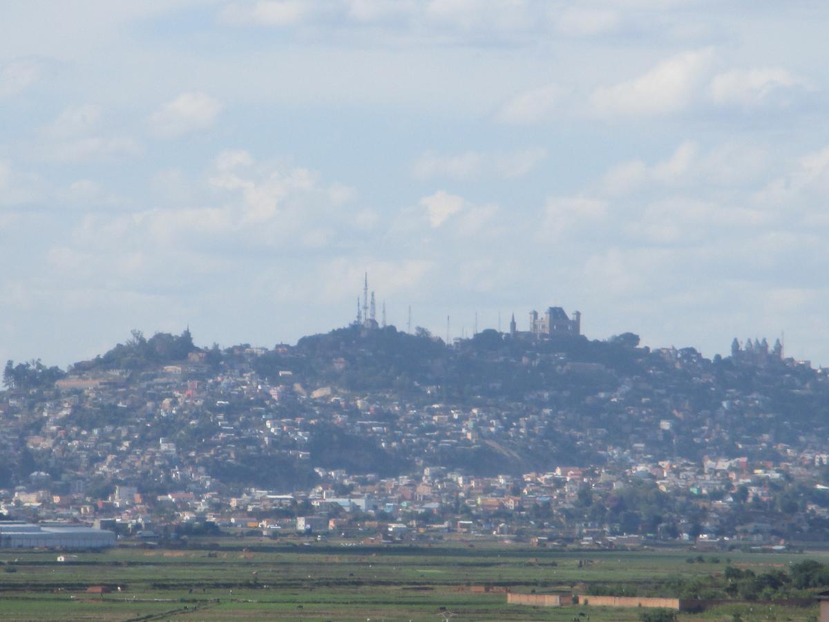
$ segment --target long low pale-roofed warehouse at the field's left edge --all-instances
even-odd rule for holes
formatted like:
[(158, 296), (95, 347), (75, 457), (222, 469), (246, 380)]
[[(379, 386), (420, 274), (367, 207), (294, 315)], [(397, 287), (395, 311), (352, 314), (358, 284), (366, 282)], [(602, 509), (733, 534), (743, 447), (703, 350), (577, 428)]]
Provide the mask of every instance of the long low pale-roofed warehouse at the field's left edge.
[(0, 522), (0, 548), (85, 549), (114, 546), (114, 532), (105, 529), (75, 525)]

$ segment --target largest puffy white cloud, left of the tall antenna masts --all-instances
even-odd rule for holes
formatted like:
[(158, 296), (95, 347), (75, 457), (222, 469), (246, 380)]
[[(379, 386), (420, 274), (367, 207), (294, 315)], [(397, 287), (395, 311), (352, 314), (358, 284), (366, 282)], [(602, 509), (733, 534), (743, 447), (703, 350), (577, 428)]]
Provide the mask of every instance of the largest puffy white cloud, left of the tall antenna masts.
[[(177, 251), (219, 260), (250, 252), (313, 253), (346, 243), (368, 216), (342, 201), (342, 184), (324, 185), (306, 168), (257, 162), (250, 153), (219, 154), (199, 182), (172, 174), (172, 197), (163, 207), (91, 214), (73, 233), (78, 248), (102, 254)], [(183, 192), (178, 187), (185, 186)], [(83, 188), (81, 188), (83, 189)], [(185, 202), (178, 202), (176, 194)]]

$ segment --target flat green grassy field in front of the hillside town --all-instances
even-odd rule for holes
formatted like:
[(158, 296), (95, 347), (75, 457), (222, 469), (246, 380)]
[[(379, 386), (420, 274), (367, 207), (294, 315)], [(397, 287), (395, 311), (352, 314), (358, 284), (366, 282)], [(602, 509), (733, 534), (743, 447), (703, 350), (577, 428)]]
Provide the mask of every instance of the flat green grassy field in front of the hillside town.
[[(56, 552), (0, 552), (2, 620), (638, 620), (635, 609), (507, 605), (512, 591), (584, 591), (637, 586), (670, 576), (708, 576), (734, 566), (762, 572), (807, 554), (687, 551), (562, 552), (496, 542), (342, 546), (223, 538), (187, 549), (119, 547), (56, 561)], [(710, 562), (718, 557), (719, 563)], [(104, 595), (90, 586), (108, 586)], [(120, 590), (119, 590), (120, 588)], [(672, 596), (671, 594), (664, 594)], [(581, 615), (579, 615), (581, 614)], [(811, 608), (728, 605), (680, 620), (813, 620)]]

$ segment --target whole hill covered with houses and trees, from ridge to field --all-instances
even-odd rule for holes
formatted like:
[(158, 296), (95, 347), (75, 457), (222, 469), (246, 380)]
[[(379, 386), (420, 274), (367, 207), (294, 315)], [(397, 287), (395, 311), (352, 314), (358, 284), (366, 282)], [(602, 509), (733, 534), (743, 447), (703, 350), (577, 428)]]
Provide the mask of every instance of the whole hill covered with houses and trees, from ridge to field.
[(633, 333), (446, 344), (355, 323), (221, 348), (133, 331), (68, 370), (8, 362), (3, 381), (12, 518), (604, 546), (829, 536), (829, 374), (765, 340), (708, 359)]

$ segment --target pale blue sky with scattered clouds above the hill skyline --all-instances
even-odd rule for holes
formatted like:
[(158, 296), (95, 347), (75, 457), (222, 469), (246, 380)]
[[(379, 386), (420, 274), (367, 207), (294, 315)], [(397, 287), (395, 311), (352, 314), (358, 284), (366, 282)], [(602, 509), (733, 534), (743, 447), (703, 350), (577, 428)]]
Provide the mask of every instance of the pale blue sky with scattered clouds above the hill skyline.
[(0, 2), (0, 359), (356, 316), (829, 364), (829, 4)]

